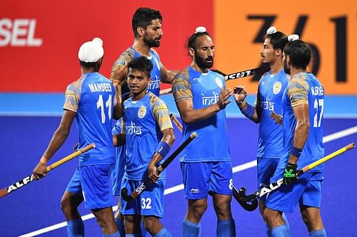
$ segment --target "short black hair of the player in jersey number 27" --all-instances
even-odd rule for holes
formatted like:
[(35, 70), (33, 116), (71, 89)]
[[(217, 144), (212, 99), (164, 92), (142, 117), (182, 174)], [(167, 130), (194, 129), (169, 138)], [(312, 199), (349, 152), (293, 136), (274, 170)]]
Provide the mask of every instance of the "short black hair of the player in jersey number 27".
[(301, 40), (286, 43), (284, 53), (285, 56), (289, 56), (291, 65), (303, 70), (306, 69), (311, 60), (311, 48)]

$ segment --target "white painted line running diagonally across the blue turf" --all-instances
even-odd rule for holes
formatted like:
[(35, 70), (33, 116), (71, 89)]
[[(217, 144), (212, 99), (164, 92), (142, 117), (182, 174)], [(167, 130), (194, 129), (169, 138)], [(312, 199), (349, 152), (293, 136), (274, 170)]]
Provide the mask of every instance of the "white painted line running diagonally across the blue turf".
[[(331, 141), (339, 139), (341, 137), (347, 137), (348, 135), (353, 135), (354, 133), (357, 133), (357, 126), (350, 127), (350, 128), (348, 128), (346, 130), (342, 130), (342, 131), (339, 131), (339, 132), (335, 132), (335, 133), (333, 133), (331, 135), (327, 135), (327, 136), (323, 137), (323, 143), (331, 142)], [(243, 171), (245, 169), (250, 169), (250, 168), (253, 168), (253, 167), (256, 167), (256, 160), (253, 160), (251, 162), (246, 162), (244, 164), (240, 164), (240, 165), (238, 165), (236, 167), (233, 167), (233, 173), (240, 172), (240, 171)], [(183, 190), (183, 184), (178, 184), (176, 186), (172, 186), (171, 188), (165, 189), (164, 195), (172, 194), (172, 193), (174, 193), (176, 191), (181, 191), (181, 190)], [(117, 207), (113, 206), (113, 211), (116, 211), (116, 209), (117, 209)], [(91, 218), (94, 218), (94, 215), (93, 214), (87, 214), (87, 215), (84, 215), (84, 216), (81, 216), (81, 217), (82, 217), (83, 221), (86, 221), (86, 220), (89, 220)], [(55, 225), (48, 226), (46, 228), (41, 228), (38, 231), (33, 231), (33, 232), (30, 232), (30, 233), (26, 233), (26, 234), (24, 234), (22, 236), (19, 236), (19, 237), (38, 236), (41, 233), (47, 233), (49, 231), (54, 231), (54, 230), (56, 230), (58, 228), (62, 228), (64, 226), (66, 226), (66, 221), (61, 222), (61, 223), (56, 223)]]

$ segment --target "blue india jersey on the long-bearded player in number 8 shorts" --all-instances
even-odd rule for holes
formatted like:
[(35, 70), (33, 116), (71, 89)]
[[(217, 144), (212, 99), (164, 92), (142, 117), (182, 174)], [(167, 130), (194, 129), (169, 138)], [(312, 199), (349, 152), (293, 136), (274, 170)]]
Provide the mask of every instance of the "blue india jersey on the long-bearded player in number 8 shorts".
[[(226, 88), (223, 76), (211, 70), (208, 73), (199, 73), (191, 67), (178, 73), (172, 84), (175, 101), (192, 100), (194, 110), (218, 102), (221, 88)], [(181, 162), (231, 161), (225, 110), (198, 122), (183, 122), (182, 139), (187, 139), (191, 132), (197, 132), (198, 137), (183, 149)]]

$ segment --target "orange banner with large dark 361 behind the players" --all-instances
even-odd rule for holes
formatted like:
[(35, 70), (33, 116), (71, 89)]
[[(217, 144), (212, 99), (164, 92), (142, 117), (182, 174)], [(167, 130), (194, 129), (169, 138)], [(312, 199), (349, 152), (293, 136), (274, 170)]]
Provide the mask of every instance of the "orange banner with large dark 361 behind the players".
[[(357, 1), (213, 1), (216, 68), (225, 73), (258, 68), (269, 26), (298, 33), (316, 51), (314, 73), (326, 94), (357, 94)], [(233, 80), (256, 93), (257, 79)]]

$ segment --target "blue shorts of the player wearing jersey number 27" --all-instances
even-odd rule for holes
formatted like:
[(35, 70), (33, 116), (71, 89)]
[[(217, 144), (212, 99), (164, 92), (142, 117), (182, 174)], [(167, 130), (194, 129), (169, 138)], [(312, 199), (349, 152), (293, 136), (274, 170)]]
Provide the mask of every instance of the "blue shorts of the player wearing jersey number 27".
[[(271, 182), (281, 179), (283, 172), (284, 169), (277, 169)], [(320, 208), (322, 181), (323, 174), (321, 172), (301, 174), (295, 183), (283, 185), (268, 194), (266, 206), (269, 209), (287, 213), (292, 213), (296, 204)]]

